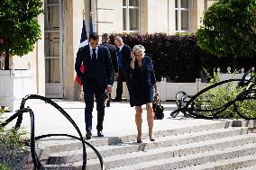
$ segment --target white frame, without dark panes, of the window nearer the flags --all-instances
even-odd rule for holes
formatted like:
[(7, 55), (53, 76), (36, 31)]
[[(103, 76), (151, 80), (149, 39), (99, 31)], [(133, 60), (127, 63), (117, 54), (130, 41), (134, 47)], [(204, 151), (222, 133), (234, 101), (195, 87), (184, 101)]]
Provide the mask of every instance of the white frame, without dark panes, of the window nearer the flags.
[[(123, 29), (123, 32), (140, 32), (141, 31), (141, 17), (142, 17), (142, 1), (141, 0), (138, 0), (138, 6), (130, 6), (130, 0), (125, 0), (126, 4), (125, 6), (123, 6), (123, 3), (122, 3), (122, 13), (123, 13), (123, 9), (125, 9), (126, 11), (126, 15), (125, 15), (125, 19), (126, 19), (126, 22), (125, 22), (125, 30)], [(134, 31), (131, 31), (131, 27), (130, 27), (130, 9), (138, 9), (138, 30), (134, 30)], [(123, 16), (122, 16), (123, 17)]]

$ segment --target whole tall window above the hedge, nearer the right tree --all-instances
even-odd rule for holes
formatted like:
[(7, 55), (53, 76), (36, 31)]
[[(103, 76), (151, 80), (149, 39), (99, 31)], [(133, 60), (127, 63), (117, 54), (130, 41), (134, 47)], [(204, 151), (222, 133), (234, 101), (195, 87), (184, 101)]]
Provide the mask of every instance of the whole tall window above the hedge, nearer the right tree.
[(175, 0), (176, 31), (190, 30), (190, 0)]

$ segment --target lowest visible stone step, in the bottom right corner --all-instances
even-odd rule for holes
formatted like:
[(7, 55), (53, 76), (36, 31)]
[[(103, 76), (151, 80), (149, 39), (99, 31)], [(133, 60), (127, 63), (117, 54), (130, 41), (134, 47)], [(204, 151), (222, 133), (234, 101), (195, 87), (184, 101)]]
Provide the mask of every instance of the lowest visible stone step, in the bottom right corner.
[(176, 170), (256, 170), (256, 153), (243, 157), (224, 159), (213, 163), (206, 163), (196, 166), (187, 166)]

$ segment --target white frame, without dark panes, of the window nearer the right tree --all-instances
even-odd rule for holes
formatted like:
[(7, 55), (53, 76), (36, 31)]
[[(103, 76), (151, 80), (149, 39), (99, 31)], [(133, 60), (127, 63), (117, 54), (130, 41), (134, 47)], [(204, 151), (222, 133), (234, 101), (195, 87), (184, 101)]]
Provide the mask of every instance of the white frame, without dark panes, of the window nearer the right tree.
[[(178, 2), (178, 5), (176, 4)], [(187, 0), (187, 8), (182, 8), (181, 7), (181, 0), (176, 0), (175, 1), (175, 32), (189, 32), (191, 31), (191, 0)], [(176, 7), (177, 6), (177, 7)], [(187, 11), (188, 13), (188, 28), (187, 30), (181, 30), (181, 12), (182, 11)], [(176, 21), (176, 12), (178, 13), (178, 21)], [(178, 24), (178, 30), (177, 30), (177, 24)]]

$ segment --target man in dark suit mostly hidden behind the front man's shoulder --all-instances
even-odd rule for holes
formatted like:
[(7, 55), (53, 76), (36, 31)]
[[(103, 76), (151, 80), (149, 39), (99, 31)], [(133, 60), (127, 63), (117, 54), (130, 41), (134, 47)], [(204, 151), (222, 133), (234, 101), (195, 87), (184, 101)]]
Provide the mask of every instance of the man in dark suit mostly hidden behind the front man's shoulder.
[[(114, 78), (118, 76), (118, 63), (117, 63), (117, 55), (116, 55), (116, 48), (114, 45), (108, 43), (109, 41), (109, 35), (107, 33), (104, 33), (102, 35), (102, 45), (104, 45), (107, 49), (109, 49), (110, 55), (111, 55), (111, 60), (114, 68)], [(109, 98), (111, 98), (111, 94), (109, 94)], [(110, 101), (108, 100), (106, 103), (106, 106), (110, 106)]]

